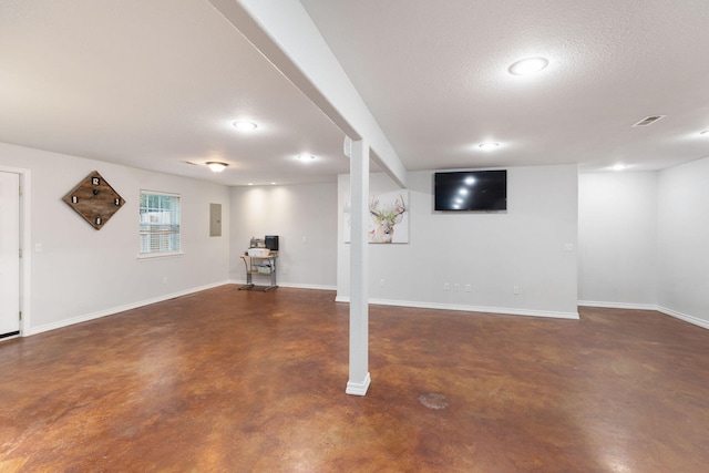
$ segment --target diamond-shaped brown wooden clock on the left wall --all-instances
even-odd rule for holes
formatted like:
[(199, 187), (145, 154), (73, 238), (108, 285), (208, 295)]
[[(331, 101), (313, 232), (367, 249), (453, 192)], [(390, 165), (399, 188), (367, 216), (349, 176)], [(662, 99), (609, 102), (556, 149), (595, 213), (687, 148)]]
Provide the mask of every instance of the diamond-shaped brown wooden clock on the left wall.
[(96, 171), (89, 174), (62, 200), (97, 230), (125, 204), (123, 197)]

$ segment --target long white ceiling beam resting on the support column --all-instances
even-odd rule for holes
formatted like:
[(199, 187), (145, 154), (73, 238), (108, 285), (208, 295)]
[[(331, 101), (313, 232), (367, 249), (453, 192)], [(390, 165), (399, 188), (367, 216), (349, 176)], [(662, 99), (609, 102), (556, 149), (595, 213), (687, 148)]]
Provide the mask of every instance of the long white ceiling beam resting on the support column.
[(407, 168), (298, 0), (209, 0), (264, 56), (401, 187)]

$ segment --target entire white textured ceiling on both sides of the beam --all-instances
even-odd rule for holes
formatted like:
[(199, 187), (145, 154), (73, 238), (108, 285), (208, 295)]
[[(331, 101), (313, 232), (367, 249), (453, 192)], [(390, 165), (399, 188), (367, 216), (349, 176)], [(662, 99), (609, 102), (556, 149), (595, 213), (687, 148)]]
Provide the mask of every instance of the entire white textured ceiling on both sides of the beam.
[[(709, 156), (707, 0), (301, 3), (409, 169)], [(0, 142), (245, 185), (332, 181), (343, 136), (206, 0), (0, 0)]]

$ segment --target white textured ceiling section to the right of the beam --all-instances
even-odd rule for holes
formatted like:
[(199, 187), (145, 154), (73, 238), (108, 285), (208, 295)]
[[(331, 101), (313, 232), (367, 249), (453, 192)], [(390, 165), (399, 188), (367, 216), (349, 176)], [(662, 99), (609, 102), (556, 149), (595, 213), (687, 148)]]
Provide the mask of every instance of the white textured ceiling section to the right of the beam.
[[(709, 155), (706, 0), (301, 3), (410, 169)], [(507, 72), (537, 55), (541, 73)]]

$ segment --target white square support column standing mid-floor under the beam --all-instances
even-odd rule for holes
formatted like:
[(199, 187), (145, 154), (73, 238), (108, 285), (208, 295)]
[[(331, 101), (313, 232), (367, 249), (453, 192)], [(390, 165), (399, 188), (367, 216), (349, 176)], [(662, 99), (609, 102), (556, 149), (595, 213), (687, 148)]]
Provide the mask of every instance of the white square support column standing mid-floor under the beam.
[(369, 146), (362, 140), (346, 138), (350, 145), (350, 195), (352, 235), (350, 238), (350, 379), (348, 394), (364, 395), (369, 377), (369, 291), (368, 238)]

